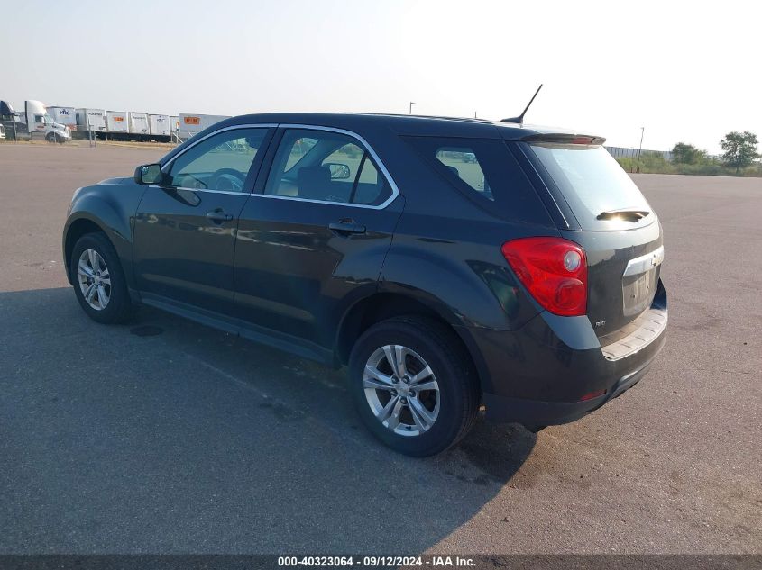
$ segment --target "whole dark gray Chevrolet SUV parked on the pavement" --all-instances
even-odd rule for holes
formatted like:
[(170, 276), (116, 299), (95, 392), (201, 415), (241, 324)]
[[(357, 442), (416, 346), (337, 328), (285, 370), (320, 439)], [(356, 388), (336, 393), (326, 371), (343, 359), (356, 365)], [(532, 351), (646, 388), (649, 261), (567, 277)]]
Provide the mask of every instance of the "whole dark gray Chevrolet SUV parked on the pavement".
[(80, 188), (63, 231), (95, 321), (144, 303), (329, 366), (391, 448), (574, 421), (665, 339), (656, 213), (603, 140), (518, 123), (280, 113)]

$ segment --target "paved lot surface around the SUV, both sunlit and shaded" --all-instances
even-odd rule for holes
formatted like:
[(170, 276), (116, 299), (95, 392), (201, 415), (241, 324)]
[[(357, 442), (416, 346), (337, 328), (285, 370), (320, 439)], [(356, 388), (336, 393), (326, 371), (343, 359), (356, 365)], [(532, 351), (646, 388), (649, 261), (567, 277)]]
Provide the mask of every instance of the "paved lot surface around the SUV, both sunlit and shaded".
[(164, 152), (0, 144), (0, 553), (762, 552), (762, 179), (635, 176), (670, 310), (637, 386), (413, 459), (343, 371), (151, 309), (87, 319), (71, 194)]

